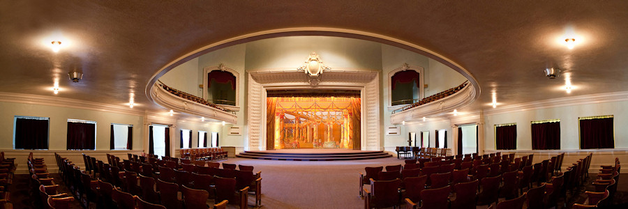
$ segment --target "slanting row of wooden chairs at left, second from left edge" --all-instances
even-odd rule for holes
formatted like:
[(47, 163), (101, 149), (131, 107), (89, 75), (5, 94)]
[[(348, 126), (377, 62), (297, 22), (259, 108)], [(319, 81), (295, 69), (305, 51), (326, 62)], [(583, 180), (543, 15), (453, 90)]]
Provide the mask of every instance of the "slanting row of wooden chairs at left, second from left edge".
[(27, 163), (31, 176), (31, 196), (36, 197), (33, 206), (35, 208), (70, 208), (74, 197), (67, 193), (58, 192), (59, 185), (48, 173), (43, 158), (35, 158), (33, 153), (29, 153)]

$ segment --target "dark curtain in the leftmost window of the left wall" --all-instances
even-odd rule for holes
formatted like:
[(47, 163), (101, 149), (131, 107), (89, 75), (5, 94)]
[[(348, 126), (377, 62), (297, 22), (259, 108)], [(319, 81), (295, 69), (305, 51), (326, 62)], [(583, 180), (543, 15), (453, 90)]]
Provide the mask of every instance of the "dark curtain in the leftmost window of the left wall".
[(48, 120), (17, 118), (15, 121), (16, 149), (47, 149)]

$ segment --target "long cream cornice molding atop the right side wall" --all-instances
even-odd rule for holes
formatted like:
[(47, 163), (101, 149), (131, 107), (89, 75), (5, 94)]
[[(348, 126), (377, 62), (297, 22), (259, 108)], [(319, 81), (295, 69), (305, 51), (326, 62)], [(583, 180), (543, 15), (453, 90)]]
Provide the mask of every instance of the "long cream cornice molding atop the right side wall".
[(628, 91), (618, 91), (613, 93), (597, 93), (590, 95), (578, 95), (573, 97), (556, 98), (550, 100), (540, 100), (521, 104), (512, 104), (495, 109), (484, 109), (484, 115), (507, 114), (516, 111), (528, 111), (533, 109), (548, 109), (553, 107), (566, 107), (582, 104), (597, 104), (603, 102), (628, 101)]

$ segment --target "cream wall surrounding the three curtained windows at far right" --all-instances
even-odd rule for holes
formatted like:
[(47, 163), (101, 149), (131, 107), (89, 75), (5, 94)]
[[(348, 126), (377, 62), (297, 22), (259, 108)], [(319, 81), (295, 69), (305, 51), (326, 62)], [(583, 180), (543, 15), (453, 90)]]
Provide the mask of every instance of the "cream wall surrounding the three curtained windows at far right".
[(517, 123), (517, 150), (532, 150), (530, 121), (560, 119), (560, 148), (580, 148), (578, 117), (614, 115), (615, 148), (628, 148), (628, 101), (581, 104), (484, 116), (486, 150), (495, 149), (495, 124)]

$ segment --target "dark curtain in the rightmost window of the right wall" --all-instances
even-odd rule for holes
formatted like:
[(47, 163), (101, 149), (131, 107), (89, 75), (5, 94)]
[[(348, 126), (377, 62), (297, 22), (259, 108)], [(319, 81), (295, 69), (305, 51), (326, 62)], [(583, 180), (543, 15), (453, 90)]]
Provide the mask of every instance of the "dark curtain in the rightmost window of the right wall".
[(580, 120), (580, 148), (615, 148), (613, 118)]

